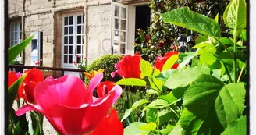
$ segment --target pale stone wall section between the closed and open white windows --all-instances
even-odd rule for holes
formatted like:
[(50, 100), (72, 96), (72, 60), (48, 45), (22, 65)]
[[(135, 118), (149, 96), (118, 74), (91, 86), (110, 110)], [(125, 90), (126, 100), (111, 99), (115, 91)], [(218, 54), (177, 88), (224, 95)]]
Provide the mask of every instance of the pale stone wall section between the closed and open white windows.
[(88, 6), (87, 12), (87, 57), (91, 63), (111, 53), (111, 5)]

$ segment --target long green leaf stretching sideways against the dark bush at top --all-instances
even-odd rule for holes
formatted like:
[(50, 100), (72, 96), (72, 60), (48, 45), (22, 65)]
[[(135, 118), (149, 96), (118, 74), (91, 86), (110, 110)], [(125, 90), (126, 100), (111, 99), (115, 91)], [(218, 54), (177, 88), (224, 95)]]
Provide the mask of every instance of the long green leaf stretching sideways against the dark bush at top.
[(172, 23), (201, 34), (207, 34), (211, 37), (220, 37), (221, 34), (219, 23), (216, 23), (211, 18), (191, 11), (188, 7), (162, 13), (161, 16), (165, 23)]

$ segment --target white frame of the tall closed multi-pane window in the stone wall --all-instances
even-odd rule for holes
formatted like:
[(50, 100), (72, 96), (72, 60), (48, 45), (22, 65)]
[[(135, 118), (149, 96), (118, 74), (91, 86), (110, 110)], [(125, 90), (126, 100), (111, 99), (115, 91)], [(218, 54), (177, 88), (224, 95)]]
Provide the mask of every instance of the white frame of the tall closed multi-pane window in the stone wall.
[[(73, 24), (72, 25), (65, 25), (65, 17), (69, 17), (69, 16), (73, 16)], [(84, 23), (81, 23), (81, 24), (77, 24), (77, 16), (82, 16), (82, 19), (81, 21), (83, 22), (84, 21), (84, 13), (83, 12), (73, 12), (73, 13), (67, 13), (67, 14), (63, 14), (62, 15), (62, 68), (72, 68), (72, 69), (76, 69), (77, 66), (73, 64), (73, 61), (76, 61), (76, 56), (77, 55), (80, 55), (81, 57), (81, 61), (83, 61), (83, 58), (85, 57), (84, 54)], [(69, 20), (68, 20), (69, 21)], [(64, 46), (70, 46), (69, 44), (69, 40), (68, 40), (68, 44), (64, 44), (64, 37), (66, 35), (64, 35), (64, 27), (65, 26), (73, 26), (73, 34), (69, 34), (69, 28), (68, 28), (68, 39), (69, 39), (69, 36), (73, 36), (73, 61), (72, 63), (69, 63), (69, 58), (67, 59), (68, 63), (64, 63)], [(81, 34), (77, 34), (77, 26), (81, 26)], [(77, 36), (81, 36), (81, 44), (77, 44)], [(81, 52), (83, 53), (80, 53), (80, 54), (77, 54), (77, 50), (76, 50), (76, 46), (77, 45), (81, 45)], [(69, 47), (68, 47), (69, 49)], [(69, 55), (69, 51), (66, 55)]]

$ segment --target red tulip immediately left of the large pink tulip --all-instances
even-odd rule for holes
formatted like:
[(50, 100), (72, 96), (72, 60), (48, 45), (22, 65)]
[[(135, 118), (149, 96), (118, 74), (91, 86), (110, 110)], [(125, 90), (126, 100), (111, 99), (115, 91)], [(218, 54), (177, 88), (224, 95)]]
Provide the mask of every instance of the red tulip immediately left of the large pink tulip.
[(44, 81), (44, 73), (42, 73), (40, 69), (36, 68), (27, 70), (25, 71), (25, 73), (27, 73), (27, 76), (24, 80), (25, 94), (23, 95), (23, 98), (25, 99), (25, 101), (34, 104), (34, 88), (37, 86), (37, 83)]

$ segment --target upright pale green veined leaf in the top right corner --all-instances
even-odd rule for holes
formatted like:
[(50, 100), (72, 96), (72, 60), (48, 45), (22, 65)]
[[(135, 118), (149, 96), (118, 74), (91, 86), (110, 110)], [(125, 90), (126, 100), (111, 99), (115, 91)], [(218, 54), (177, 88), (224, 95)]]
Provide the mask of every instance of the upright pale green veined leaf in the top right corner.
[(234, 32), (236, 30), (244, 30), (246, 28), (246, 10), (247, 6), (244, 0), (232, 0), (223, 14), (226, 26), (233, 29)]

